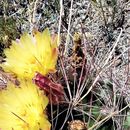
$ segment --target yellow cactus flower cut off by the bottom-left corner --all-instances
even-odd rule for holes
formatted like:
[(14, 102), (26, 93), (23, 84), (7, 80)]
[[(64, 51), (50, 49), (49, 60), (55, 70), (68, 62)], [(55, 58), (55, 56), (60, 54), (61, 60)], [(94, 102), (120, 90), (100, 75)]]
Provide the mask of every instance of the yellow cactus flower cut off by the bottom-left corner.
[(48, 98), (32, 81), (9, 83), (0, 91), (0, 130), (50, 130), (45, 108)]

